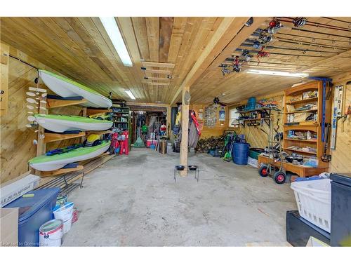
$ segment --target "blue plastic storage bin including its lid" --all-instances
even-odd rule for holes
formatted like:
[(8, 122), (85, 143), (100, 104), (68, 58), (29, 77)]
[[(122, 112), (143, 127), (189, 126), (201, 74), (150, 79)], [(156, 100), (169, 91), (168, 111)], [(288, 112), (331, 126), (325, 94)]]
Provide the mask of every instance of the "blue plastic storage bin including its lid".
[(19, 208), (18, 246), (39, 246), (39, 228), (53, 219), (52, 210), (60, 188), (29, 191), (33, 197), (20, 197), (6, 205), (6, 208)]

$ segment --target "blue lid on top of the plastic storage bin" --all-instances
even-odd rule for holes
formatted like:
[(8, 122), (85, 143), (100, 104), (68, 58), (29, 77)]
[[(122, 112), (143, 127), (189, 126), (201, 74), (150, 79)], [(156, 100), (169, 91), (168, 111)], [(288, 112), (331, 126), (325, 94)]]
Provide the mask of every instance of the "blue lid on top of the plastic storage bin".
[(58, 193), (61, 191), (60, 188), (49, 188), (32, 190), (26, 194), (34, 194), (33, 197), (20, 197), (15, 201), (5, 205), (4, 208), (19, 208), (18, 222), (27, 220), (28, 217), (34, 215), (40, 208), (51, 202), (53, 198), (56, 198)]

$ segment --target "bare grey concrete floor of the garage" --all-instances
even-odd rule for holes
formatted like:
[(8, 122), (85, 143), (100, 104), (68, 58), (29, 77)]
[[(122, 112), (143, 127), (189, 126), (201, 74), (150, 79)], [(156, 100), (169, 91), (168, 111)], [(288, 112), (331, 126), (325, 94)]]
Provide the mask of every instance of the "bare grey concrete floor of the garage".
[(194, 175), (173, 180), (179, 155), (133, 149), (86, 175), (69, 195), (79, 220), (63, 246), (244, 246), (284, 243), (290, 184), (207, 154), (190, 154)]

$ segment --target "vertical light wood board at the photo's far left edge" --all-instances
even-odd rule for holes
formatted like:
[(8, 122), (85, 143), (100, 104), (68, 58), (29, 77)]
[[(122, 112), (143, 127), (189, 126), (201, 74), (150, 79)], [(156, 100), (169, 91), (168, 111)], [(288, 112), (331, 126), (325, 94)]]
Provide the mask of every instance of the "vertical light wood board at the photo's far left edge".
[(8, 65), (10, 47), (0, 43), (0, 116), (8, 112)]

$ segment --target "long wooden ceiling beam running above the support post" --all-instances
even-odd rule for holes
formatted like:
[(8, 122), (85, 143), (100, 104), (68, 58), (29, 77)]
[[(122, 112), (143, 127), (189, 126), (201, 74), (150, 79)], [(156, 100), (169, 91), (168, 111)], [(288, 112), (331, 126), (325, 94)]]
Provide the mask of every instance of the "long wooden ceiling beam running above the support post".
[[(199, 79), (199, 77), (204, 74), (208, 66), (217, 67), (216, 63), (218, 61), (223, 62), (227, 58), (227, 53), (223, 54), (223, 50), (233, 51), (232, 46), (239, 46), (246, 38), (248, 38), (262, 22), (265, 22), (267, 18), (255, 18), (253, 25), (251, 27), (245, 27), (244, 23), (249, 20), (247, 18), (224, 18), (220, 23), (215, 34), (213, 34), (211, 40), (209, 41), (204, 51), (201, 53), (197, 62), (195, 62), (190, 72), (185, 77), (183, 83), (178, 87), (176, 94), (171, 100), (171, 104), (174, 104), (183, 89), (183, 86), (192, 86), (192, 84)], [(244, 33), (241, 33), (244, 31)], [(240, 41), (235, 41), (235, 45), (231, 45), (227, 48), (228, 44), (232, 43), (234, 39), (237, 39), (238, 33), (240, 34)], [(237, 47), (234, 47), (234, 49)], [(214, 63), (213, 63), (214, 62)]]

